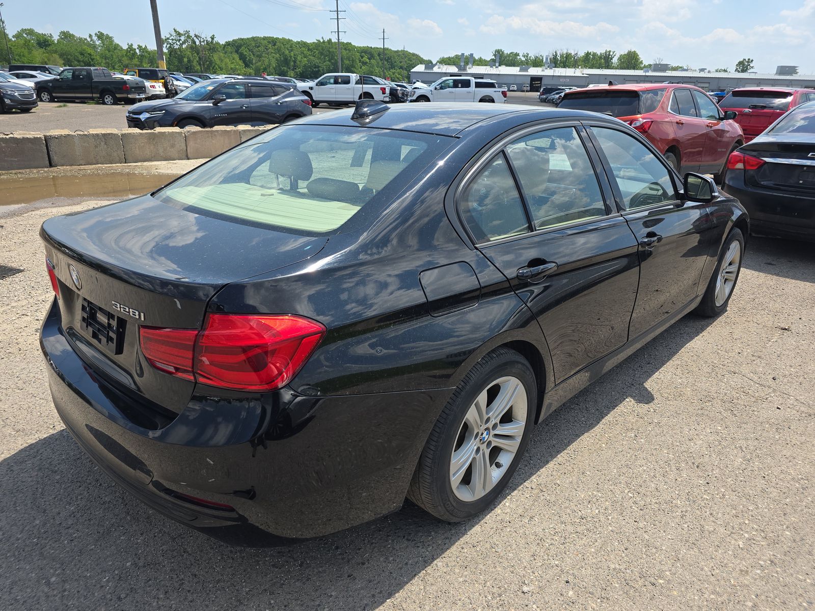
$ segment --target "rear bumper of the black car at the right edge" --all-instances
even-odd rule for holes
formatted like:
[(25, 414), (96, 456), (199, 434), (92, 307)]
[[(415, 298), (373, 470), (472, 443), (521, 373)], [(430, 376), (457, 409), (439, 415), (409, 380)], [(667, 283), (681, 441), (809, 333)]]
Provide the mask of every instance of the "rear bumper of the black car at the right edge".
[(728, 170), (722, 190), (747, 209), (751, 233), (815, 240), (815, 195), (753, 187), (743, 170)]

